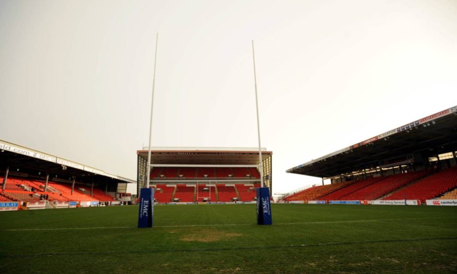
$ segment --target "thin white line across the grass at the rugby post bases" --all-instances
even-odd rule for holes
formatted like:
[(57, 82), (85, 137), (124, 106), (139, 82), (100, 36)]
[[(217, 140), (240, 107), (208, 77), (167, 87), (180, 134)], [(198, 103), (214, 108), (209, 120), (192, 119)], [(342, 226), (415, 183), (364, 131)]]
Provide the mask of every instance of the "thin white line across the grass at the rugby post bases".
[[(424, 218), (404, 218), (404, 219), (372, 219), (372, 220), (348, 220), (348, 221), (322, 221), (322, 222), (297, 222), (297, 223), (273, 223), (274, 225), (284, 224), (321, 224), (321, 223), (367, 223), (383, 221), (404, 221), (404, 220), (423, 220), (423, 219), (455, 219), (457, 217), (424, 217)], [(173, 227), (208, 227), (208, 226), (245, 226), (254, 225), (253, 223), (227, 223), (227, 224), (191, 224), (191, 225), (156, 225), (157, 228)], [(65, 228), (25, 228), (25, 229), (5, 229), (4, 231), (41, 231), (41, 230), (85, 230), (85, 229), (123, 229), (136, 228), (136, 226), (98, 226), (98, 227), (65, 227)]]

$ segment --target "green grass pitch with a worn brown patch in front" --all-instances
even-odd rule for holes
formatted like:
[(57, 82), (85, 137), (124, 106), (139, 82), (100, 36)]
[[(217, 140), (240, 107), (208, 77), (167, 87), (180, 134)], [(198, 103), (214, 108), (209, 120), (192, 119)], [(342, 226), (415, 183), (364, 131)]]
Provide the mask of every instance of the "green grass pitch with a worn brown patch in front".
[[(457, 207), (155, 206), (0, 212), (0, 273), (456, 273)], [(34, 229), (34, 230), (28, 230)]]

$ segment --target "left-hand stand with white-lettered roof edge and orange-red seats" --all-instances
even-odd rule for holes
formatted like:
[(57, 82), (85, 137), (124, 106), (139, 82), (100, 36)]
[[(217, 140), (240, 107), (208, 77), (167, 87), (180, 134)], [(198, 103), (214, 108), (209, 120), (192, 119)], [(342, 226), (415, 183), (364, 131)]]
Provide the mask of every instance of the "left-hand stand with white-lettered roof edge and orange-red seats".
[[(112, 196), (119, 194), (118, 197), (121, 197), (124, 194), (123, 197), (131, 197), (130, 193), (125, 194), (127, 194), (127, 183), (134, 183), (133, 180), (4, 140), (0, 140), (0, 147), (2, 148), (0, 151), (1, 196), (21, 202), (21, 206), (25, 205), (22, 202), (40, 200), (76, 202), (76, 204), (72, 203), (71, 207), (77, 206), (78, 202), (102, 202), (100, 205), (105, 204), (103, 202), (115, 202), (110, 203), (112, 205), (129, 202), (127, 198), (118, 201)], [(6, 184), (3, 186), (5, 178)], [(46, 180), (49, 182), (44, 191)], [(71, 186), (74, 186), (73, 194), (71, 194)], [(90, 191), (92, 188), (93, 196)], [(48, 205), (47, 203), (39, 205), (42, 204)], [(80, 206), (90, 205), (91, 203), (80, 204)], [(54, 208), (54, 206), (47, 207)]]

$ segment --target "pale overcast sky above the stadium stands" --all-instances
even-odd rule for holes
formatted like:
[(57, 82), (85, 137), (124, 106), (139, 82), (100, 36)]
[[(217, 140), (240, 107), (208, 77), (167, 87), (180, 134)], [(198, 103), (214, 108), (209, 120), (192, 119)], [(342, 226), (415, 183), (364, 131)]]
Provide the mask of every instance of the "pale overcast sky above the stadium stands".
[(456, 0), (0, 0), (0, 139), (136, 178), (153, 146), (285, 170), (457, 104)]

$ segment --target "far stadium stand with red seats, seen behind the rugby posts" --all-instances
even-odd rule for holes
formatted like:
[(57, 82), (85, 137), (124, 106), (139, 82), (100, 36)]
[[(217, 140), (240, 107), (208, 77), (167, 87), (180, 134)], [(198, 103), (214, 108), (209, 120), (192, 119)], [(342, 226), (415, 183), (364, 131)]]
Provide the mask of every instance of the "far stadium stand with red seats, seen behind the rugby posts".
[[(261, 182), (256, 168), (260, 160), (258, 148), (158, 147), (151, 149), (150, 156), (147, 149), (137, 151), (137, 191), (147, 187), (144, 178), (149, 160), (153, 164), (149, 187), (157, 188), (158, 203), (208, 202), (210, 194), (211, 203), (255, 201), (252, 187), (260, 187)], [(262, 151), (264, 186), (271, 192), (272, 152)]]

